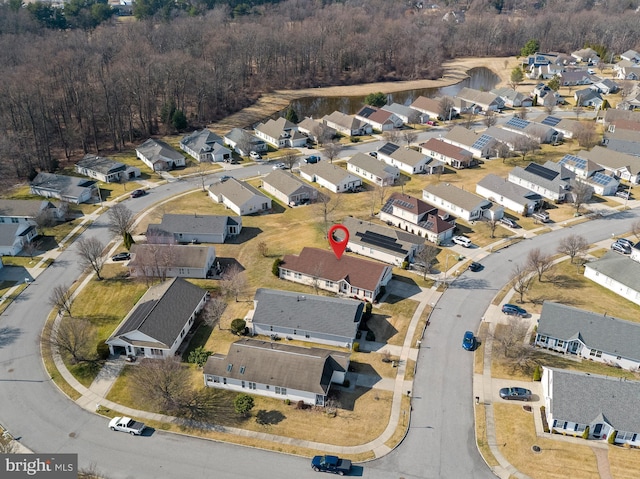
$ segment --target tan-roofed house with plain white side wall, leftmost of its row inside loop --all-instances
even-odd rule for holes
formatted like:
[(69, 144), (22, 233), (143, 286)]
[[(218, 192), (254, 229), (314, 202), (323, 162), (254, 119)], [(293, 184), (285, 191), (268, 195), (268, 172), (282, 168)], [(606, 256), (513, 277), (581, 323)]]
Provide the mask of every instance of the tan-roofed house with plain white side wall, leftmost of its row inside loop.
[(249, 183), (235, 178), (209, 185), (208, 191), (213, 201), (224, 204), (240, 216), (271, 210), (271, 198)]

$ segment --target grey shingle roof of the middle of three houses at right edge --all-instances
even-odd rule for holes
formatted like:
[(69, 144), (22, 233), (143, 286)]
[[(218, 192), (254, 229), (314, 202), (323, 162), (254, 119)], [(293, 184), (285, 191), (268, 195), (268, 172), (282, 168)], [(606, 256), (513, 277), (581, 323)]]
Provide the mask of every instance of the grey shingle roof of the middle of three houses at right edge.
[[(624, 259), (634, 263), (628, 258)], [(545, 301), (540, 313), (538, 334), (565, 341), (579, 338), (590, 349), (640, 360), (639, 323)]]

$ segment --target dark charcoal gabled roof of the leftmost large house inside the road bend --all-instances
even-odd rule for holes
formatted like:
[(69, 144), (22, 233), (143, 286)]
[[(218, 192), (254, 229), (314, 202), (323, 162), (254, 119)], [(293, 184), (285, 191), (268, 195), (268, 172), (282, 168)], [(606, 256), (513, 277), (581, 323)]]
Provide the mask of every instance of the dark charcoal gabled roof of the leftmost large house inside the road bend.
[(128, 341), (128, 333), (140, 331), (169, 349), (205, 294), (206, 291), (182, 278), (152, 286), (109, 339), (119, 337)]

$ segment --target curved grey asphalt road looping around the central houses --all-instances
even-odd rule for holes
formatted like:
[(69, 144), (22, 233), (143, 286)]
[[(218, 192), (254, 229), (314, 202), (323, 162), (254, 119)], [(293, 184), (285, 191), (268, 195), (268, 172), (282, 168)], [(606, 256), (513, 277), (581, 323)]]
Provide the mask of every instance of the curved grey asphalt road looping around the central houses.
[[(233, 173), (251, 176), (252, 169)], [(186, 181), (163, 185), (127, 201), (127, 206), (141, 211), (193, 187)], [(485, 258), (481, 272), (458, 278), (438, 302), (422, 342), (407, 438), (356, 474), (376, 479), (494, 477), (474, 444), (472, 355), (461, 353), (463, 332), (477, 329), (482, 311), (510, 277), (513, 262), (524, 258), (528, 249), (553, 252), (559, 239), (572, 233), (602, 240), (627, 231), (636, 217), (636, 212), (625, 212), (523, 241)], [(109, 238), (105, 219), (83, 235)], [(37, 452), (78, 453), (81, 467), (96, 465), (112, 479), (317, 477), (306, 458), (160, 431), (142, 438), (114, 434), (103, 417), (60, 394), (42, 365), (39, 335), (51, 309), (47, 301), (51, 288), (71, 284), (80, 275), (75, 256), (73, 247), (64, 251), (2, 315), (0, 422), (14, 437)]]

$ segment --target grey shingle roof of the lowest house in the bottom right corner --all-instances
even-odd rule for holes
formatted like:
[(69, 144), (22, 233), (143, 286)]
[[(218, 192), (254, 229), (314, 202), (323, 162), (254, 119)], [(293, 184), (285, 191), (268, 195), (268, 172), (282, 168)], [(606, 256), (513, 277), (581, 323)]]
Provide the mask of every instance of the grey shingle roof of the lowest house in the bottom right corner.
[(552, 371), (551, 414), (560, 421), (606, 421), (617, 431), (640, 432), (640, 382), (562, 369)]

